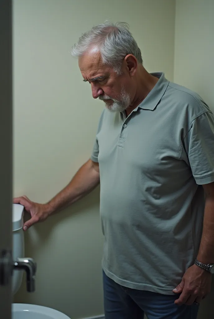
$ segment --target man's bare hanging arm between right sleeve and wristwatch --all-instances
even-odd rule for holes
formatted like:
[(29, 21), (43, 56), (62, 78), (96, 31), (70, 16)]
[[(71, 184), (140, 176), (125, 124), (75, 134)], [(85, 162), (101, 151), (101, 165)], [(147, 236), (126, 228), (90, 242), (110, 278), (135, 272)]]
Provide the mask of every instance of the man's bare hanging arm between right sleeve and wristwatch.
[(206, 192), (203, 233), (197, 260), (205, 264), (214, 263), (214, 194), (212, 191)]

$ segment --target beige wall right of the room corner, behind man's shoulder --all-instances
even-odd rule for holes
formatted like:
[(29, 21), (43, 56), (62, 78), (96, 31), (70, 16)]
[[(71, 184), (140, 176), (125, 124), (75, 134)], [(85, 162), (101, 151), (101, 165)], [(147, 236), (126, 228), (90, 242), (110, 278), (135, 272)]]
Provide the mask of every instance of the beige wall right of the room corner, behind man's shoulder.
[[(214, 1), (177, 0), (174, 81), (196, 91), (214, 111)], [(213, 146), (214, 147), (214, 146)], [(212, 292), (202, 302), (198, 319), (214, 317)]]

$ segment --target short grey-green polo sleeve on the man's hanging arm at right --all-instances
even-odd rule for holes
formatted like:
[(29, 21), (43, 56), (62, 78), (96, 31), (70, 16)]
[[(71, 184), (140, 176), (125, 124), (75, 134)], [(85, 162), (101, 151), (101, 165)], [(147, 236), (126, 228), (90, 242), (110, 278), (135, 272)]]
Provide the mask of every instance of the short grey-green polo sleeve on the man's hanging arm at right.
[(184, 138), (189, 165), (198, 185), (214, 182), (214, 115), (196, 117)]

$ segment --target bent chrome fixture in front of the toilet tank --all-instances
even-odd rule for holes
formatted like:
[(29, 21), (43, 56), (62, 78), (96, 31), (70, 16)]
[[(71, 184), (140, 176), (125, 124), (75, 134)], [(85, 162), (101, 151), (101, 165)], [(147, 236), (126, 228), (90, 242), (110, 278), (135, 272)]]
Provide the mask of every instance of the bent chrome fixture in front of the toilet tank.
[(17, 258), (13, 265), (14, 270), (26, 271), (26, 286), (28, 292), (35, 291), (36, 262), (32, 258)]

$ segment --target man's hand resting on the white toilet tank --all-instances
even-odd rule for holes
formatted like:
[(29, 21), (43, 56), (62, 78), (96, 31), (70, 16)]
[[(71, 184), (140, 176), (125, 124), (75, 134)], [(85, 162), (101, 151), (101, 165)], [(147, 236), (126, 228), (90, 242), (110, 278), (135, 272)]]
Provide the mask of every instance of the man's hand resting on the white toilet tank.
[(25, 195), (14, 198), (13, 203), (25, 206), (25, 210), (31, 214), (31, 219), (25, 222), (23, 230), (27, 230), (33, 224), (45, 220), (50, 213), (50, 209), (47, 204), (34, 203)]

